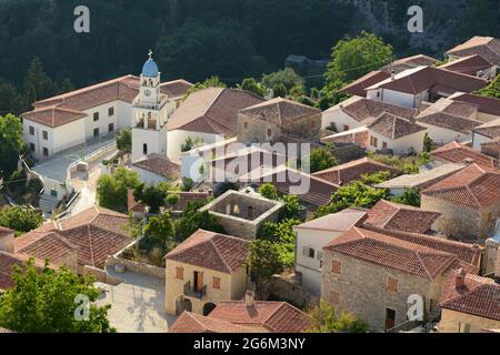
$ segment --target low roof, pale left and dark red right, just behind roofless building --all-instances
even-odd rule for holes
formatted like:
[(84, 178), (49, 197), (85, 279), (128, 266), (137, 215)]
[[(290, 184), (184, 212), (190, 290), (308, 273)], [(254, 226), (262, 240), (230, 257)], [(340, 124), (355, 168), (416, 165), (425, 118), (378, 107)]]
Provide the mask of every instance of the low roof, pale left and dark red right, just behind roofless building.
[[(296, 194), (301, 201), (310, 203), (314, 206), (326, 205), (331, 201), (331, 195), (336, 193), (339, 185), (297, 170), (278, 166), (261, 168), (251, 171), (247, 175), (239, 178), (242, 183), (272, 183), (280, 193)], [(293, 193), (293, 189), (301, 189), (309, 182), (309, 189), (303, 193)]]

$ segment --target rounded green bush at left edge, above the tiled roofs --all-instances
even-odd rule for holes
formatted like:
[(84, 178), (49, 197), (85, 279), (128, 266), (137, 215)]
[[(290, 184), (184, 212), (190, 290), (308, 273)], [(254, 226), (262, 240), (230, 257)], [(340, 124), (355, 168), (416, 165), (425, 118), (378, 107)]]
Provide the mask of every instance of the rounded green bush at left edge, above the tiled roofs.
[(32, 209), (22, 206), (0, 210), (0, 225), (11, 229), (18, 234), (38, 229), (43, 223), (43, 215)]

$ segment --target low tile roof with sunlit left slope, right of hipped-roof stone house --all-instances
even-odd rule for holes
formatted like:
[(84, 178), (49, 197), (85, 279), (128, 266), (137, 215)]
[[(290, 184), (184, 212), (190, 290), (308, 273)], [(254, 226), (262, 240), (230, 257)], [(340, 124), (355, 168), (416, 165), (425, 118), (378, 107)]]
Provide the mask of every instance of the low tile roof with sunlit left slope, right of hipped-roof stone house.
[(350, 115), (358, 122), (364, 120), (374, 120), (386, 112), (407, 120), (417, 116), (417, 114), (419, 113), (417, 109), (398, 106), (387, 102), (359, 97), (350, 98), (329, 110), (334, 110), (337, 108), (340, 108), (342, 112)]

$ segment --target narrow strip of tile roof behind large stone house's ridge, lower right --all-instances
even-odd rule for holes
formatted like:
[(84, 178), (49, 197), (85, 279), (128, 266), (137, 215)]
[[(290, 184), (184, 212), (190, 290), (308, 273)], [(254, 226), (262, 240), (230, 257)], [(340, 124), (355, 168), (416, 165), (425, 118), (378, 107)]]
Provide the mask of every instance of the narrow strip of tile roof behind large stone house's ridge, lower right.
[(419, 244), (437, 251), (456, 255), (459, 261), (474, 266), (479, 266), (481, 248), (478, 245), (468, 243), (450, 241), (442, 237), (437, 237), (427, 234), (410, 233), (396, 230), (381, 229), (374, 225), (364, 224), (364, 230), (370, 230), (377, 233), (389, 235), (393, 239), (406, 241), (412, 244)]

